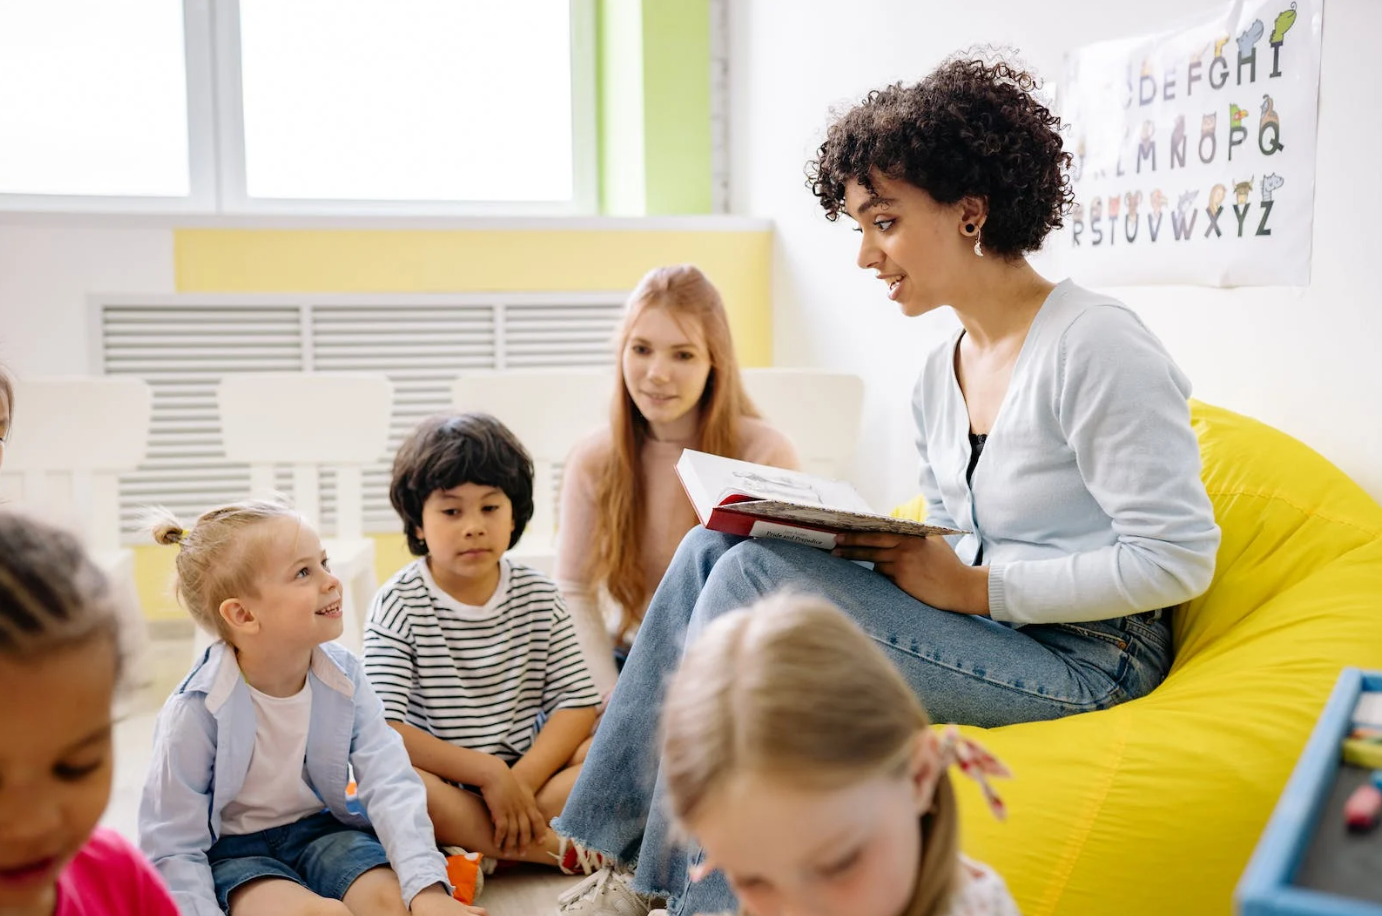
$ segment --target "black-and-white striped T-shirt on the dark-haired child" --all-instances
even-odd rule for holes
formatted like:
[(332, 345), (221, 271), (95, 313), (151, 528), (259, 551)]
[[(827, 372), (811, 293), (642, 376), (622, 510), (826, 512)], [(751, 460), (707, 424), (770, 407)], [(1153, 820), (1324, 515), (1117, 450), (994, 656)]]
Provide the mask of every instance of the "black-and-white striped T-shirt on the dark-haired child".
[(509, 560), (482, 608), (437, 587), (426, 558), (401, 569), (369, 608), (365, 674), (386, 718), (510, 764), (553, 713), (600, 703), (557, 586)]

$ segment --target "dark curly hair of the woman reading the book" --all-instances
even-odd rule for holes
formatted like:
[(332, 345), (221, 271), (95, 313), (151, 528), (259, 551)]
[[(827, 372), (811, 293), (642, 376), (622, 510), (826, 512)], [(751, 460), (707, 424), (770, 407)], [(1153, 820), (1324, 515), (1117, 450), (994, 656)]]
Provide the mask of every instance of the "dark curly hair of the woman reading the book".
[(850, 181), (873, 192), (875, 171), (937, 203), (980, 198), (988, 202), (985, 250), (1035, 251), (1075, 198), (1060, 117), (1032, 97), (1036, 87), (1027, 70), (966, 54), (915, 86), (873, 90), (831, 124), (807, 184), (829, 220), (844, 209)]

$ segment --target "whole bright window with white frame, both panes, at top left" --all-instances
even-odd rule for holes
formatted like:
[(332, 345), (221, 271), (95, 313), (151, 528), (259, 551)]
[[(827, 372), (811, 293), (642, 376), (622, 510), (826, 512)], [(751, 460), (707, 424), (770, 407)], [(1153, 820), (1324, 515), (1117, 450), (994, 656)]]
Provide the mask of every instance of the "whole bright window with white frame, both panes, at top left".
[(593, 213), (594, 149), (593, 0), (0, 3), (4, 210)]

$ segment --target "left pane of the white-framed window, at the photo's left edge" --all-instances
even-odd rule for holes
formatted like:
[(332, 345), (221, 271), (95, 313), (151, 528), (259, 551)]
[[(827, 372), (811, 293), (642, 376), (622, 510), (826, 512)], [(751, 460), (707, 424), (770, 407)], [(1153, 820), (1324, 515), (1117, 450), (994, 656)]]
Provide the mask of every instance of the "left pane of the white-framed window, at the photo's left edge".
[[(180, 209), (210, 189), (192, 167), (181, 0), (0, 4), (0, 195), (8, 207)], [(203, 32), (205, 35), (205, 32)], [(205, 123), (209, 126), (210, 119)], [(202, 152), (210, 153), (206, 131)], [(209, 164), (209, 163), (203, 163)], [(200, 185), (200, 187), (198, 187)], [(202, 200), (203, 206), (209, 199)]]

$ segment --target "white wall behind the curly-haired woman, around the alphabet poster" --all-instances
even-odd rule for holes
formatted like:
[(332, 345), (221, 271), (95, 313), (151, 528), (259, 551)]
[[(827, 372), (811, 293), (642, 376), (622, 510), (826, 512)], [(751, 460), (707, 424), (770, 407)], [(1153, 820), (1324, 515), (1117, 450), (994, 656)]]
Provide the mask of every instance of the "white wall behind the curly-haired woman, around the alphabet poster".
[[(1285, 6), (1285, 4), (1282, 4)], [(854, 479), (878, 507), (915, 492), (907, 402), (920, 354), (956, 325), (949, 309), (904, 319), (872, 274), (854, 265), (857, 236), (829, 224), (803, 164), (828, 111), (896, 80), (915, 82), (980, 41), (1016, 46), (1054, 88), (1067, 50), (1223, 12), (1226, 1), (746, 0), (731, 4), (731, 209), (778, 228), (775, 361), (861, 373), (868, 402)], [(983, 11), (981, 14), (978, 11)], [(1307, 289), (1129, 287), (1136, 308), (1194, 380), (1195, 395), (1303, 439), (1382, 496), (1382, 119), (1375, 83), (1378, 0), (1328, 0), (1320, 75), (1314, 264)], [(1036, 258), (1063, 276), (1059, 251)], [(1077, 276), (1078, 282), (1079, 278)]]

